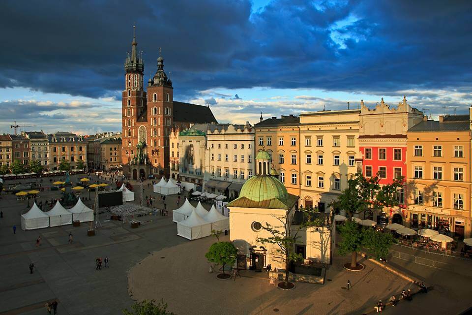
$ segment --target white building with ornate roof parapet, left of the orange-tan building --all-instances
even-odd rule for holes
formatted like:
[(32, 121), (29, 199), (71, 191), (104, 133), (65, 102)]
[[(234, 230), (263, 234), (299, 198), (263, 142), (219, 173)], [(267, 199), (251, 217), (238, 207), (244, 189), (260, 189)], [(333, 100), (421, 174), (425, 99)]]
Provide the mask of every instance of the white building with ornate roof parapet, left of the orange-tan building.
[(204, 189), (237, 197), (254, 175), (254, 158), (254, 128), (249, 123), (208, 125)]

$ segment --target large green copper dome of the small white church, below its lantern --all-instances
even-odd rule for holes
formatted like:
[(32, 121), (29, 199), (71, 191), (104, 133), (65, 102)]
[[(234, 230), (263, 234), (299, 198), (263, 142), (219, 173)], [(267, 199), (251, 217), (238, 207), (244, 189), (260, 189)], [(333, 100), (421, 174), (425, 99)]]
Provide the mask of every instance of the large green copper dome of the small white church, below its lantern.
[[(265, 152), (265, 151), (261, 151)], [(270, 199), (279, 199), (286, 202), (289, 194), (284, 184), (273, 176), (254, 176), (244, 183), (239, 197), (260, 202)]]

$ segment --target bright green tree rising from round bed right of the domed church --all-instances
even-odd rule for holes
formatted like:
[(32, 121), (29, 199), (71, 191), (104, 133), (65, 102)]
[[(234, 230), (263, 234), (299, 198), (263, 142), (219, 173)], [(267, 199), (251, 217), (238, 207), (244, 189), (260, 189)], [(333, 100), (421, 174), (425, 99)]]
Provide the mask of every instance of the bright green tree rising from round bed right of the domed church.
[(346, 255), (351, 253), (351, 267), (357, 265), (357, 252), (362, 249), (362, 230), (360, 226), (351, 220), (344, 221), (339, 227), (342, 241), (338, 244), (339, 254)]

